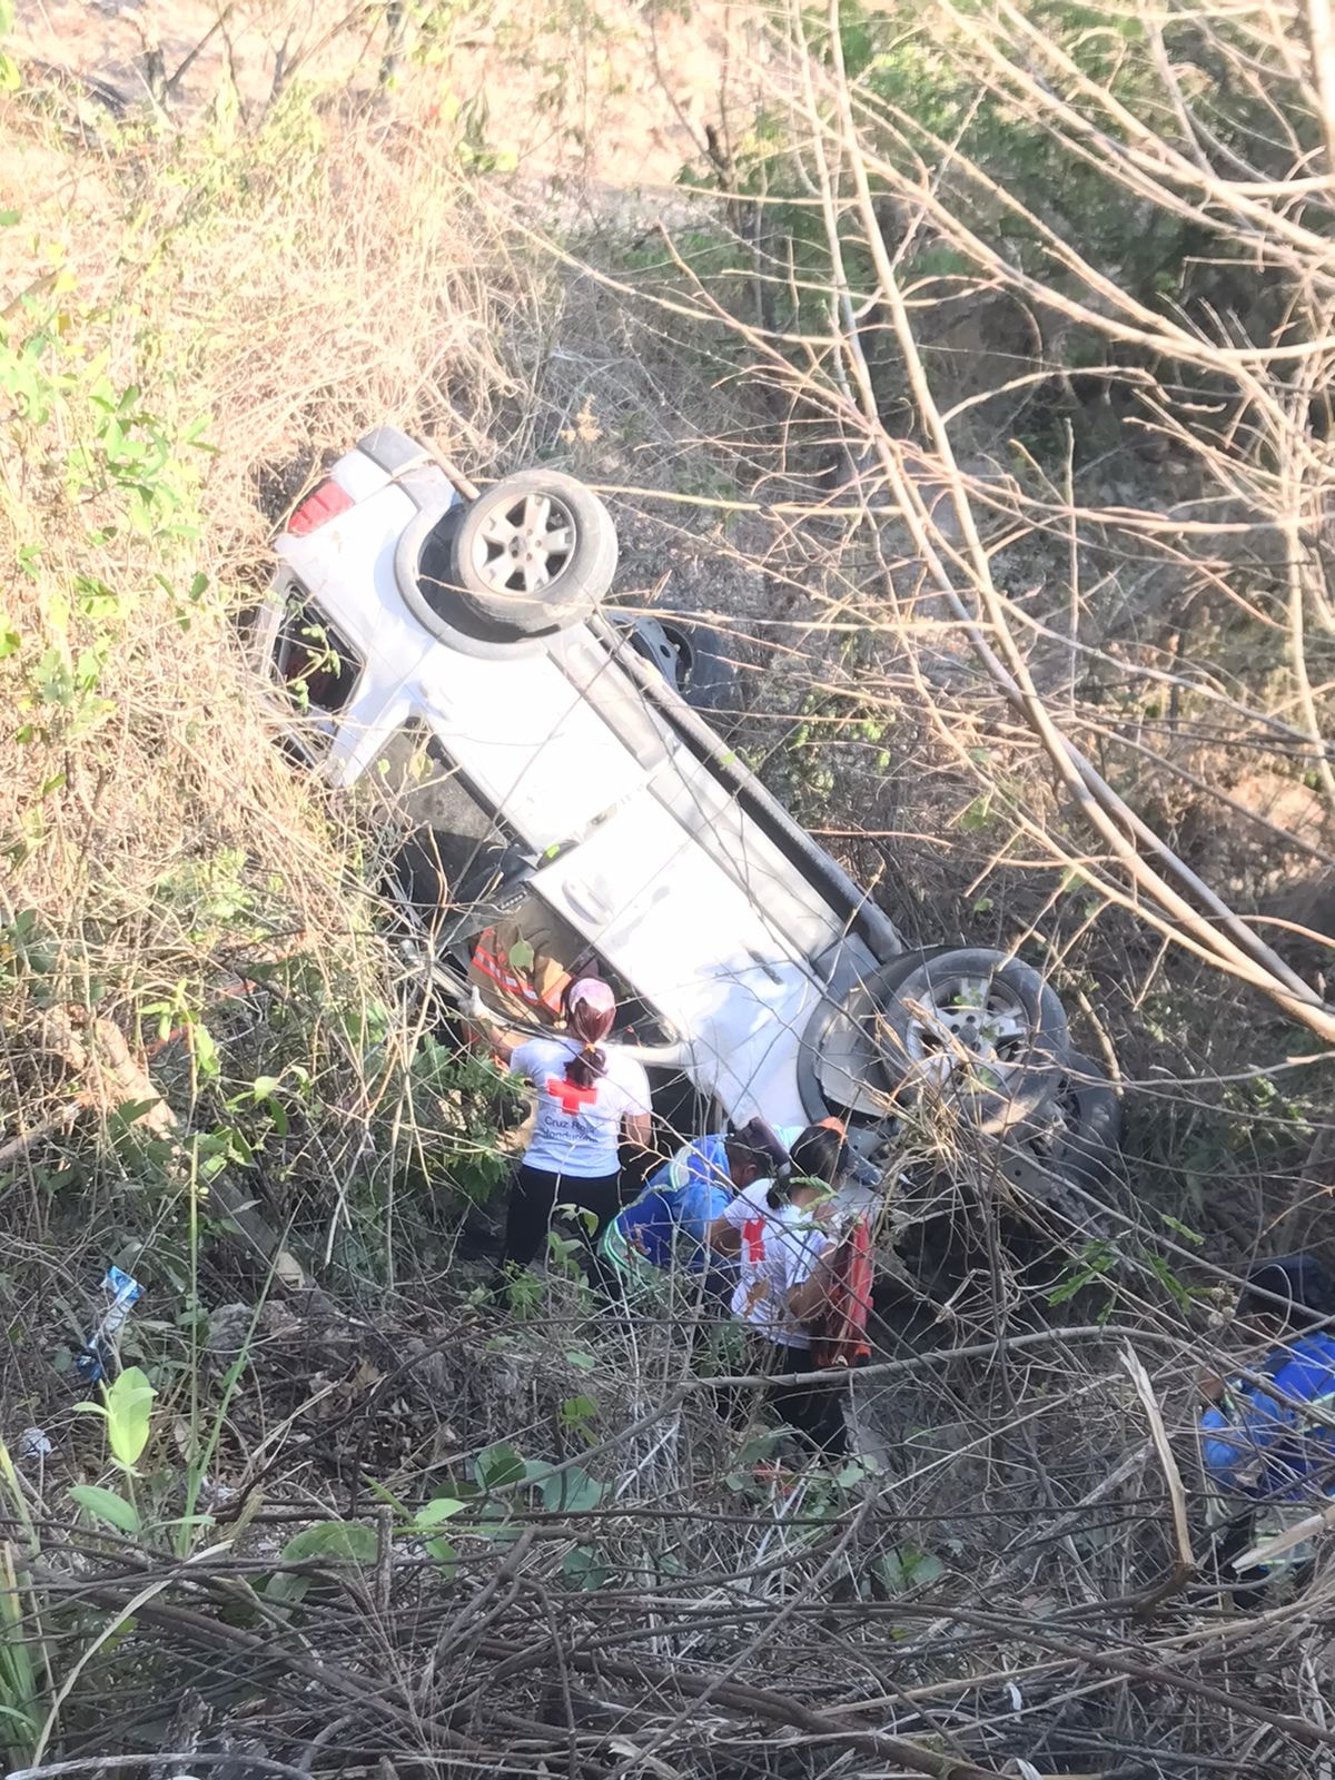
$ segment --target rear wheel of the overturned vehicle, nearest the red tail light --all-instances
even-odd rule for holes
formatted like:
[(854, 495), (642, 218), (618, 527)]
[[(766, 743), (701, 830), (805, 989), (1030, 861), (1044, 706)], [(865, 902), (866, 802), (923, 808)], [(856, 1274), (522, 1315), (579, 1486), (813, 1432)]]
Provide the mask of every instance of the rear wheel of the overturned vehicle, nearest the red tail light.
[(545, 635), (598, 607), (616, 575), (616, 525), (559, 470), (504, 475), (445, 529), (445, 577), (497, 641)]

